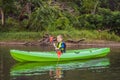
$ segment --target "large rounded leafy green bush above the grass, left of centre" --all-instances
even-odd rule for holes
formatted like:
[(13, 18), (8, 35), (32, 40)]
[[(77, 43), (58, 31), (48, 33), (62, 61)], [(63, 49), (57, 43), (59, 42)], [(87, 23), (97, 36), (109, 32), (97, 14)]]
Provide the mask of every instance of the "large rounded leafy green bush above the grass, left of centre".
[(31, 31), (68, 30), (72, 28), (71, 22), (66, 14), (60, 10), (60, 7), (49, 6), (46, 2), (42, 3), (42, 6), (32, 13), (29, 20), (30, 27), (28, 29)]

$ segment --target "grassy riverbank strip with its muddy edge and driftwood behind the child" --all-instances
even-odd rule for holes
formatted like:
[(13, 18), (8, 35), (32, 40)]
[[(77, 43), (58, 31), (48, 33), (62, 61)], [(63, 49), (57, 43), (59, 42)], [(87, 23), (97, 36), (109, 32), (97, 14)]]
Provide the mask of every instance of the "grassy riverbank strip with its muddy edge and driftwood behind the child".
[[(67, 45), (120, 46), (120, 37), (114, 33), (97, 30), (72, 30), (54, 32), (4, 32), (0, 33), (0, 45), (51, 45), (46, 35), (62, 34)], [(47, 39), (45, 39), (47, 38)]]

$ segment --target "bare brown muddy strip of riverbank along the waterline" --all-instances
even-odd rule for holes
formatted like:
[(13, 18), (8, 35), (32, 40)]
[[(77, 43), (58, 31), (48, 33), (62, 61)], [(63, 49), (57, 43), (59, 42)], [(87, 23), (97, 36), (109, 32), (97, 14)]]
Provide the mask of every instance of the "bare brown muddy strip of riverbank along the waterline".
[[(39, 41), (32, 41), (32, 42), (0, 42), (0, 45), (17, 45), (17, 46), (52, 46), (50, 43), (40, 43)], [(96, 40), (96, 41), (83, 41), (79, 43), (70, 43), (66, 42), (66, 45), (68, 47), (71, 46), (103, 46), (103, 47), (120, 47), (120, 42), (114, 42), (114, 41), (103, 41), (103, 40)]]

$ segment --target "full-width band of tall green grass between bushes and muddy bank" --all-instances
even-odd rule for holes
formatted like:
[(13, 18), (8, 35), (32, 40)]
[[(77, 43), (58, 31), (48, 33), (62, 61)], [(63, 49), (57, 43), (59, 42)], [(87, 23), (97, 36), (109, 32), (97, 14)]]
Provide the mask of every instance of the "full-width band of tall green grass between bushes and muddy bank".
[(35, 41), (42, 38), (45, 33), (49, 33), (53, 36), (62, 34), (64, 39), (78, 40), (85, 38), (89, 40), (109, 40), (120, 41), (120, 37), (114, 33), (108, 33), (106, 31), (98, 32), (96, 30), (70, 30), (70, 31), (53, 31), (53, 32), (4, 32), (0, 33), (0, 41)]

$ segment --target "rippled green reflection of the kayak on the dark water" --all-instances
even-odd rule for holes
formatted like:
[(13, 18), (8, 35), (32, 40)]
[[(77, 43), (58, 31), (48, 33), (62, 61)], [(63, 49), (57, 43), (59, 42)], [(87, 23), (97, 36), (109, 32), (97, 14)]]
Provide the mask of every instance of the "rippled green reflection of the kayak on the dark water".
[(90, 70), (90, 69), (103, 69), (108, 68), (110, 60), (108, 58), (98, 58), (92, 60), (79, 60), (79, 61), (61, 61), (57, 62), (28, 62), (17, 63), (10, 69), (11, 76), (32, 76), (47, 74), (48, 71), (55, 71), (57, 68), (62, 70)]

